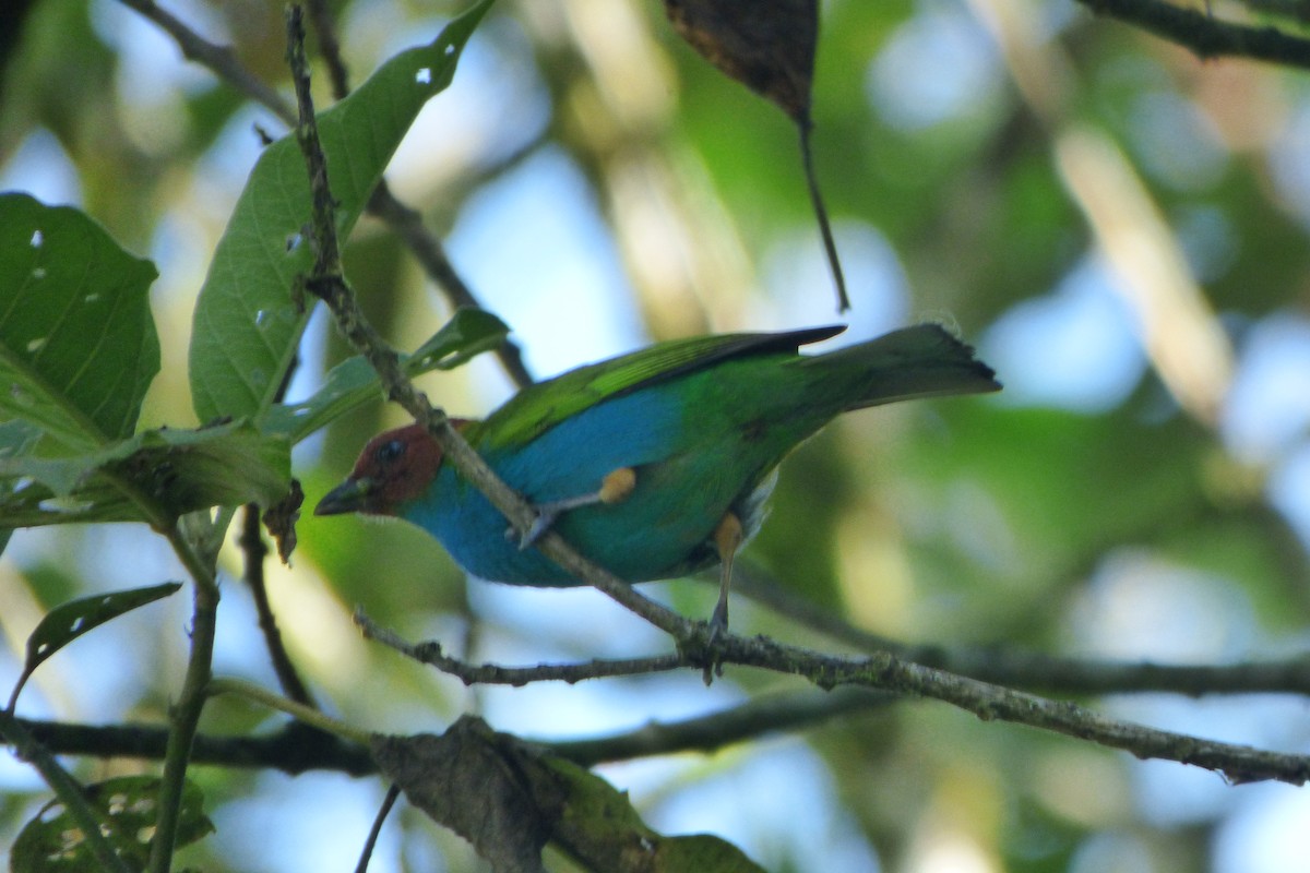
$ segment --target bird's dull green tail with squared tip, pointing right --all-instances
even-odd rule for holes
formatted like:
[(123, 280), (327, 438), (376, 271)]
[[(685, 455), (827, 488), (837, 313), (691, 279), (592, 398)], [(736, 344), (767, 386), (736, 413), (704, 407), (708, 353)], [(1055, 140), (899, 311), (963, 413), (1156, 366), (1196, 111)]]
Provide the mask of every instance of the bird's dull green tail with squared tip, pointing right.
[(996, 372), (939, 325), (916, 325), (875, 340), (802, 359), (825, 370), (815, 383), (844, 383), (844, 408), (918, 397), (1000, 391)]

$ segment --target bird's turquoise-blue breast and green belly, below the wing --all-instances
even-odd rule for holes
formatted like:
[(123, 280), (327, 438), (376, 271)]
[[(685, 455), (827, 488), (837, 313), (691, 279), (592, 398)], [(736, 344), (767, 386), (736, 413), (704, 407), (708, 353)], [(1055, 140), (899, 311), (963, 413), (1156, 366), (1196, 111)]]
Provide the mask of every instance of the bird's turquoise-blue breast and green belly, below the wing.
[[(534, 503), (590, 493), (616, 469), (631, 467), (637, 484), (626, 499), (567, 510), (554, 530), (626, 581), (694, 572), (718, 561), (707, 543), (724, 513), (738, 512), (748, 534), (758, 526), (762, 497), (751, 496), (779, 452), (722, 410), (684, 419), (683, 399), (672, 387), (650, 389), (485, 457)], [(449, 467), (417, 516), (406, 517), (434, 533), (474, 576), (515, 585), (580, 584), (536, 548), (520, 550), (517, 537), (506, 537), (504, 517)]]

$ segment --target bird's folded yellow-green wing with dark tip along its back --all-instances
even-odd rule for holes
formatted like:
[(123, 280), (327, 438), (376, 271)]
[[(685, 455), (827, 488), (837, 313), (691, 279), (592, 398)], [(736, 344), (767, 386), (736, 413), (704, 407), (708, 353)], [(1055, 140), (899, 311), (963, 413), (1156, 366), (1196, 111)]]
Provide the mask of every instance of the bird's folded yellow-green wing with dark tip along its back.
[(481, 448), (524, 445), (601, 401), (732, 357), (794, 353), (800, 346), (836, 336), (844, 330), (844, 326), (834, 325), (783, 334), (720, 334), (656, 343), (531, 385), (470, 429), (468, 437)]

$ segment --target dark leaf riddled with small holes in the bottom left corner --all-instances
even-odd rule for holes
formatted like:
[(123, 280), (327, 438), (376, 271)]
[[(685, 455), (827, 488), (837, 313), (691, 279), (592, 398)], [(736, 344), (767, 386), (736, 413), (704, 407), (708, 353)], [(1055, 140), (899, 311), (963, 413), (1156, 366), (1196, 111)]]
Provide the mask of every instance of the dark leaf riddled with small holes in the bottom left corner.
[[(114, 853), (134, 870), (145, 869), (151, 835), (159, 814), (157, 776), (119, 776), (86, 787), (86, 800), (101, 817), (101, 832)], [(204, 794), (187, 781), (182, 789), (177, 846), (187, 846), (214, 831), (204, 815)], [(24, 826), (9, 856), (13, 873), (83, 873), (101, 869), (88, 848), (81, 827), (64, 805), (50, 801)]]

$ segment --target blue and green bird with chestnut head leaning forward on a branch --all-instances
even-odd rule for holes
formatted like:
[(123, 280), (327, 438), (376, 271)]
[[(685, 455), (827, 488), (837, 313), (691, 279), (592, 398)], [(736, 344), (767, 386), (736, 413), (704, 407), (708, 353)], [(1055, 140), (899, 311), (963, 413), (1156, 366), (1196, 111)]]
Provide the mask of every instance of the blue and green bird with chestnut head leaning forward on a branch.
[(852, 410), (1001, 389), (993, 369), (935, 323), (800, 353), (844, 330), (667, 340), (529, 385), (485, 420), (452, 419), (533, 505), (523, 535), (443, 463), (422, 424), (373, 437), (314, 514), (403, 518), (469, 575), (511, 585), (586, 584), (533, 547), (546, 530), (627, 582), (718, 564), (718, 635), (734, 558), (760, 529), (777, 467), (796, 445)]

